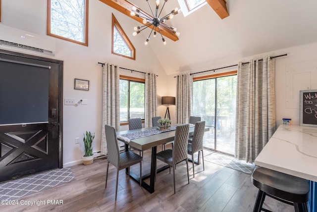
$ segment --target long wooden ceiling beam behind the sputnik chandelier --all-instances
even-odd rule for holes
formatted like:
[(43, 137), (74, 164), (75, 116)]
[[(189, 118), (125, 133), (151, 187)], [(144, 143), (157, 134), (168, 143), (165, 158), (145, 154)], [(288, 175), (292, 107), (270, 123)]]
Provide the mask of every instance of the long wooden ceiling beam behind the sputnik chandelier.
[[(131, 16), (130, 12), (132, 11), (132, 7), (135, 6), (137, 8), (139, 8), (138, 6), (134, 5), (133, 3), (127, 1), (127, 0), (100, 0), (101, 2), (111, 6), (112, 8), (118, 10), (119, 12), (122, 12), (123, 14), (129, 16), (130, 18), (133, 18), (134, 20), (142, 23), (143, 24), (143, 18), (141, 17), (137, 17), (137, 16)], [(139, 8), (140, 10), (142, 10), (141, 8)], [(143, 12), (145, 12), (144, 10), (142, 10)], [(147, 13), (147, 12), (145, 12)], [(147, 13), (149, 14), (149, 13)], [(152, 15), (150, 15), (152, 16)], [(166, 25), (167, 26), (167, 25)], [(167, 26), (168, 27), (168, 26)], [(153, 29), (153, 25), (150, 26), (149, 28)], [(159, 27), (160, 31), (162, 32), (162, 35), (166, 38), (171, 39), (172, 41), (177, 41), (178, 37), (177, 35), (175, 35), (175, 33), (173, 33), (171, 30), (166, 29), (165, 27)], [(159, 32), (158, 29), (156, 29), (157, 32)]]

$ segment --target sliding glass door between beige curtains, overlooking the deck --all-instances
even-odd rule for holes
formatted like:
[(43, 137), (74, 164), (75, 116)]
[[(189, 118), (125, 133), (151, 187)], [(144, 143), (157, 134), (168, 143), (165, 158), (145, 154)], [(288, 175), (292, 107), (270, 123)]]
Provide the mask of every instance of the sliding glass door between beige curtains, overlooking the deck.
[(205, 148), (234, 155), (237, 75), (211, 77), (194, 79), (192, 115), (210, 126)]

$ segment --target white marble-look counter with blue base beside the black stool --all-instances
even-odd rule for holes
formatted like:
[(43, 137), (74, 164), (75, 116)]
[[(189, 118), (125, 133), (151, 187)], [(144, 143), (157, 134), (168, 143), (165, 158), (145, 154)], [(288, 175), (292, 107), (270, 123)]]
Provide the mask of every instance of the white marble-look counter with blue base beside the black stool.
[(255, 164), (309, 180), (309, 211), (317, 211), (317, 127), (280, 125)]

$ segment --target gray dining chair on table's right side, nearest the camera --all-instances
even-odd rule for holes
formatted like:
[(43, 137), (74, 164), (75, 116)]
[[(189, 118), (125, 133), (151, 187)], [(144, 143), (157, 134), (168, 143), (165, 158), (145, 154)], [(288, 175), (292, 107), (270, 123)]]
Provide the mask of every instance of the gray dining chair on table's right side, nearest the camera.
[[(189, 184), (189, 172), (188, 172), (188, 155), (187, 155), (187, 144), (188, 144), (188, 133), (189, 124), (182, 124), (176, 127), (175, 140), (173, 150), (164, 150), (157, 153), (157, 159), (173, 166), (173, 184), (174, 184), (174, 194), (175, 190), (175, 165), (183, 160), (186, 161), (187, 165), (187, 178)], [(170, 167), (169, 167), (170, 172)], [(157, 173), (157, 171), (156, 171)]]

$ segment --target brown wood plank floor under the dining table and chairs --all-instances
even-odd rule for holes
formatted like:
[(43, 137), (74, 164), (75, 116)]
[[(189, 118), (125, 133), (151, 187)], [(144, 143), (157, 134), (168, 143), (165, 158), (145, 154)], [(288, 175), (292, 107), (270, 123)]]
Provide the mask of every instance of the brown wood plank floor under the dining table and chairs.
[[(158, 149), (160, 149), (158, 147)], [(204, 151), (205, 157), (211, 154)], [(142, 172), (150, 170), (151, 151), (144, 151)], [(251, 175), (205, 161), (189, 163), (190, 184), (187, 181), (186, 162), (177, 165), (176, 194), (173, 192), (173, 175), (168, 169), (157, 175), (155, 192), (150, 194), (135, 181), (119, 171), (118, 195), (115, 196), (116, 168), (109, 165), (108, 183), (105, 189), (106, 159), (95, 160), (91, 165), (75, 165), (71, 169), (75, 180), (52, 189), (18, 199), (18, 205), (0, 205), (1, 212), (252, 212), (257, 188), (251, 183)], [(158, 167), (162, 163), (158, 162)], [(131, 167), (139, 173), (139, 165)], [(47, 200), (62, 200), (63, 205), (48, 205)], [(21, 201), (44, 201), (45, 205), (23, 206)], [(273, 212), (292, 212), (292, 206), (269, 197), (264, 207)]]

